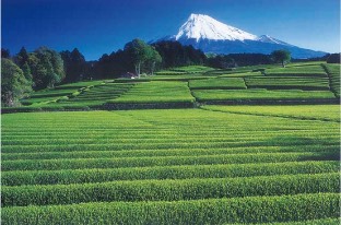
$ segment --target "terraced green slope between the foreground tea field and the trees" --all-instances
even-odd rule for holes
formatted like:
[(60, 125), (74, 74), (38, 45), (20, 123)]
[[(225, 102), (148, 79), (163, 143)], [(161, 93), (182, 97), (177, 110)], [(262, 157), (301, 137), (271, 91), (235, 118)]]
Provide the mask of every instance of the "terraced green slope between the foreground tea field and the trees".
[(339, 103), (338, 66), (322, 62), (227, 70), (184, 67), (142, 79), (79, 82), (35, 92), (10, 110), (185, 108), (211, 104)]

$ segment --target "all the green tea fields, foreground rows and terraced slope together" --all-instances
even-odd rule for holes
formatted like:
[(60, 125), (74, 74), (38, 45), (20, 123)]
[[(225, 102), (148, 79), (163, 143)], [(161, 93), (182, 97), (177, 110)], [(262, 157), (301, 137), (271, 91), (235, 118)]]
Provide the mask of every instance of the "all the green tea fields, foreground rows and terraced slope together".
[(339, 69), (192, 66), (35, 92), (2, 108), (1, 223), (339, 224)]

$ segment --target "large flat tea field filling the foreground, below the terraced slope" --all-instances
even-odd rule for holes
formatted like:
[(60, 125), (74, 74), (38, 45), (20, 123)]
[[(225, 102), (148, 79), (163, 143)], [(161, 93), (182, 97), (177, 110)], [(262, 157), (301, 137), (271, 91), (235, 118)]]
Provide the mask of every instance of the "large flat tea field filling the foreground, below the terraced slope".
[(338, 106), (255, 107), (3, 115), (2, 224), (339, 224)]

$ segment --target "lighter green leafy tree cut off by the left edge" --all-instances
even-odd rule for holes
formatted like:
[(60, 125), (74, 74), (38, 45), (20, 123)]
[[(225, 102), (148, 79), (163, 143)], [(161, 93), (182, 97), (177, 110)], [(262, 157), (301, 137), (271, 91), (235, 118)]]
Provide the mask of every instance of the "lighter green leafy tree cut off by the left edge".
[(1, 59), (1, 105), (15, 106), (31, 91), (23, 71), (11, 60)]

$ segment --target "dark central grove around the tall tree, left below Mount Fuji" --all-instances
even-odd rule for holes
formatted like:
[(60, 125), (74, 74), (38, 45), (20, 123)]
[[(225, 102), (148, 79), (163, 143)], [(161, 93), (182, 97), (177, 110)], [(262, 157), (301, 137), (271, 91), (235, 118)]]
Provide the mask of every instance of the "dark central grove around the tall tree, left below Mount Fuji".
[(179, 43), (163, 42), (149, 46), (140, 39), (127, 43), (124, 50), (103, 55), (94, 63), (97, 79), (120, 78), (127, 72), (150, 73), (169, 67), (203, 64), (205, 56), (192, 46)]

